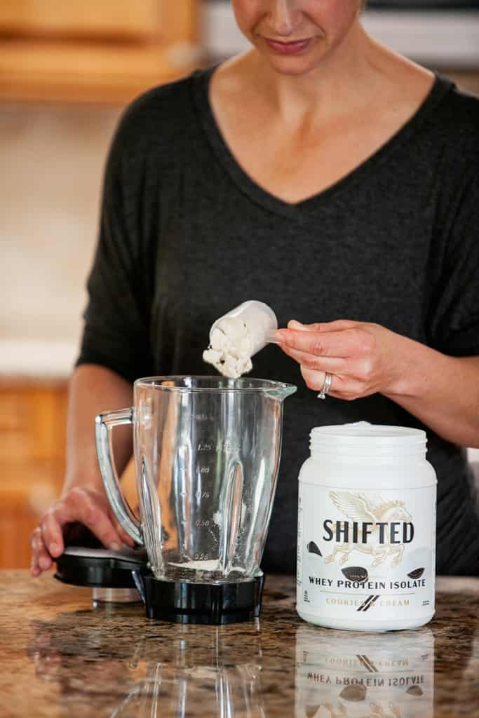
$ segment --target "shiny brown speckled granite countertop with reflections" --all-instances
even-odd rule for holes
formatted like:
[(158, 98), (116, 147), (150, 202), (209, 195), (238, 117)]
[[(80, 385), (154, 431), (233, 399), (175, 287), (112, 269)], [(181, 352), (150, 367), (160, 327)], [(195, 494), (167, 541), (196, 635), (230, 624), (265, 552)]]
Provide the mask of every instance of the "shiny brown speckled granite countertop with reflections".
[(432, 623), (395, 633), (304, 623), (294, 589), (267, 577), (260, 622), (184, 626), (0, 572), (0, 716), (479, 717), (479, 579), (438, 579)]

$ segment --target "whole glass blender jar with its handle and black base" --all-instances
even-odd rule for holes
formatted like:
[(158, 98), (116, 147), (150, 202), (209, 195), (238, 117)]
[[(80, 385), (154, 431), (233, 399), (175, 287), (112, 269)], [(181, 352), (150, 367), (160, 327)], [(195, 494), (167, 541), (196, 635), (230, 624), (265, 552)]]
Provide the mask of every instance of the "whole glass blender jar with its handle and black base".
[[(134, 383), (134, 407), (96, 417), (98, 461), (113, 512), (151, 574), (137, 572), (149, 617), (232, 623), (259, 615), (259, 567), (276, 489), (291, 384), (159, 376)], [(111, 432), (134, 426), (140, 520), (124, 500)]]

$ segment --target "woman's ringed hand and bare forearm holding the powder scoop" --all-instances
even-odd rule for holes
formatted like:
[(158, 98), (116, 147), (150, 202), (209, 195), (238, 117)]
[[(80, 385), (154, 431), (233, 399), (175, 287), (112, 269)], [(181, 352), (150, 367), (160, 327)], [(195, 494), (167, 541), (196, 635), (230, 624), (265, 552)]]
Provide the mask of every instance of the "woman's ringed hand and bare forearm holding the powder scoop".
[(448, 356), (369, 322), (338, 320), (276, 332), (307, 386), (340, 399), (379, 392), (447, 441), (479, 447), (479, 356)]

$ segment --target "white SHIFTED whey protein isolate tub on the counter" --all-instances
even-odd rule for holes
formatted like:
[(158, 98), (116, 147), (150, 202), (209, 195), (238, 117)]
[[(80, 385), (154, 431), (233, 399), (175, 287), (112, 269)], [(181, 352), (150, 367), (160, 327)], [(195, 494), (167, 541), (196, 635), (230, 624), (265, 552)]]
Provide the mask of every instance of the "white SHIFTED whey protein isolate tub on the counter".
[(359, 422), (311, 432), (299, 472), (297, 612), (346, 630), (434, 615), (436, 474), (426, 434)]

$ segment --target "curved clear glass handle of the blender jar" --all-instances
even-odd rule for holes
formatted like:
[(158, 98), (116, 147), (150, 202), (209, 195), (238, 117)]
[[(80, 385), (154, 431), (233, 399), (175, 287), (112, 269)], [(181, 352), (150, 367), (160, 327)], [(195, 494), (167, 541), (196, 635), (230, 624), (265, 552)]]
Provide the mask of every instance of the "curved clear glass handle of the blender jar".
[(141, 523), (126, 503), (112, 460), (113, 447), (111, 445), (111, 432), (113, 426), (133, 423), (134, 410), (131, 408), (118, 409), (118, 411), (105, 411), (103, 414), (98, 414), (95, 419), (96, 453), (98, 454), (101, 478), (103, 479), (103, 485), (113, 513), (126, 533), (136, 541), (136, 544), (144, 546)]

